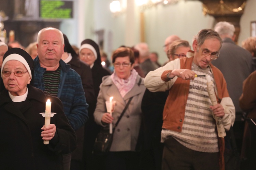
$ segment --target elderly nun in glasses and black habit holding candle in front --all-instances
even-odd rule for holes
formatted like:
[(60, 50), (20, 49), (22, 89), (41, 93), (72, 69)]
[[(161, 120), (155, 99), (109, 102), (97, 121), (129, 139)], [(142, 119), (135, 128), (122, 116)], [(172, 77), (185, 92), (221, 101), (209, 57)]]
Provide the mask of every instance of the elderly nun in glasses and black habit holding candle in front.
[[(63, 169), (62, 154), (76, 148), (76, 135), (61, 101), (33, 84), (33, 60), (20, 48), (3, 56), (5, 89), (0, 94), (1, 169)], [(51, 124), (44, 126), (45, 102), (52, 102)], [(49, 140), (44, 145), (43, 140)]]

